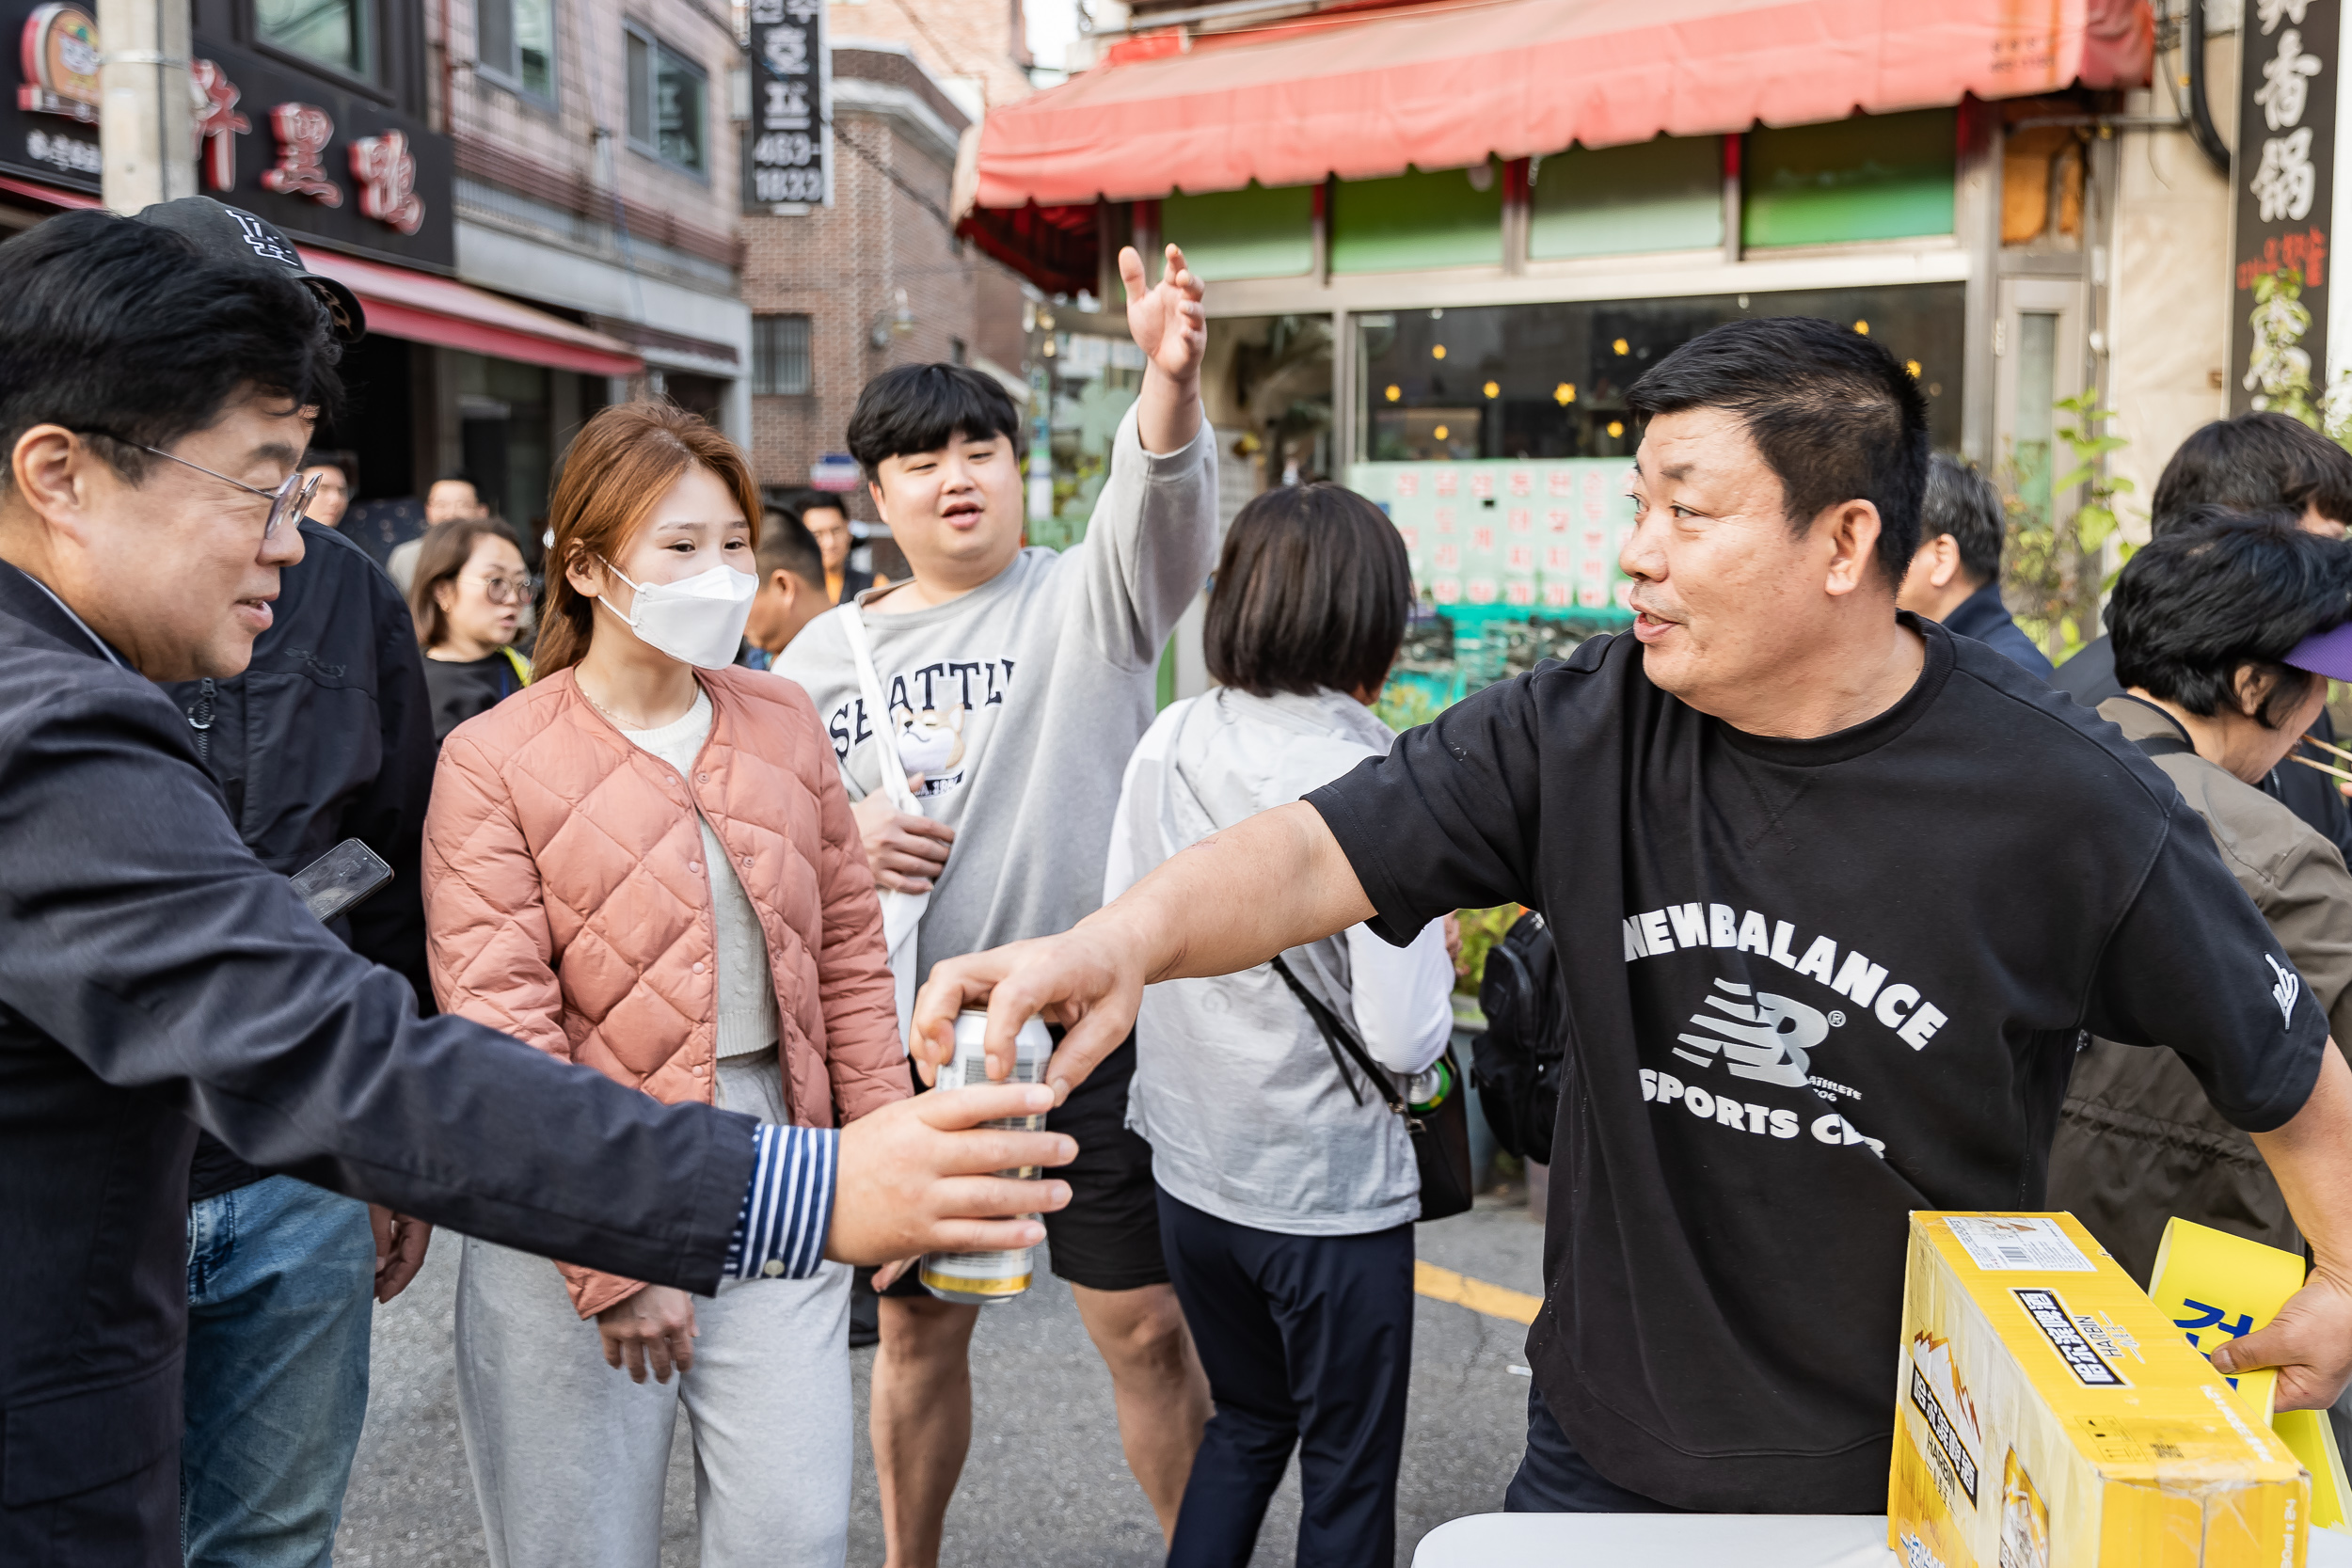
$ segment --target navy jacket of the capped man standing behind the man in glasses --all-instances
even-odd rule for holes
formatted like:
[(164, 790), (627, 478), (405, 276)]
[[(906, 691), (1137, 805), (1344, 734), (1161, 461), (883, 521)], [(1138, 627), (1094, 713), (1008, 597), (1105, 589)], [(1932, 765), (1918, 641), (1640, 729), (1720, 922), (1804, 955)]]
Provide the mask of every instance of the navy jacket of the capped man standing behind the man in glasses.
[[(275, 618), (245, 675), (165, 693), (188, 715), (195, 755), (261, 865), (292, 877), (343, 839), (383, 856), (393, 879), (327, 929), (407, 976), (416, 1011), (430, 1016), (419, 863), (435, 748), (416, 623), (360, 545), (308, 520), (301, 538), (303, 557), (278, 574)], [(188, 1197), (261, 1175), (200, 1133)]]

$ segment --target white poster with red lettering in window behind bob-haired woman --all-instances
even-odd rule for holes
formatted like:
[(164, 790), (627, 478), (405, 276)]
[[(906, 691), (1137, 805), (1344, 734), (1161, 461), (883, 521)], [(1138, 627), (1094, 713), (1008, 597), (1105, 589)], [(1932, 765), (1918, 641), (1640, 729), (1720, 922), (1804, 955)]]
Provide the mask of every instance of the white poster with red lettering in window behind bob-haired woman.
[(1632, 534), (1630, 470), (1625, 458), (1352, 463), (1348, 487), (1397, 524), (1425, 609), (1628, 621), (1616, 559)]

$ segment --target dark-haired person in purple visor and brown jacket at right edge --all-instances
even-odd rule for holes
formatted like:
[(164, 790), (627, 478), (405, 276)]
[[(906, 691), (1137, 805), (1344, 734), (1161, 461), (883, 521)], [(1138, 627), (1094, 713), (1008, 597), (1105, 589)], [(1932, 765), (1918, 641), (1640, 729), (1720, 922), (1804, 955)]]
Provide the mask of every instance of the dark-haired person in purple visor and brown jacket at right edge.
[[(2328, 677), (2352, 677), (2352, 545), (2291, 508), (2201, 505), (2124, 567), (2107, 604), (2124, 696), (2098, 717), (2171, 778), (2279, 940), (2265, 985), (2281, 1016), (2300, 987), (2352, 1041), (2352, 875), (2277, 799), (2277, 769), (2319, 717)], [(2180, 919), (2197, 919), (2183, 910)], [(2180, 1215), (2300, 1251), (2279, 1185), (2171, 1051), (2093, 1039), (2074, 1058), (2049, 1208), (2070, 1208), (2133, 1276)]]

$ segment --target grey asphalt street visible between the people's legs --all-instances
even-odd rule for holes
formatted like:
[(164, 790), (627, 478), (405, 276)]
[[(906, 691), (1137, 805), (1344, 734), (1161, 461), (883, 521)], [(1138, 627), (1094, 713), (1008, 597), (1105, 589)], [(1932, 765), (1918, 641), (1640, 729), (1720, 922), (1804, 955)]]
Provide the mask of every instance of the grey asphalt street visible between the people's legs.
[[(1505, 1291), (1541, 1293), (1543, 1227), (1524, 1194), (1479, 1199), (1472, 1213), (1416, 1227), (1423, 1262)], [(475, 1568), (487, 1563), (466, 1448), (456, 1432), (452, 1298), (456, 1255), (437, 1237), (416, 1284), (376, 1309), (374, 1387), (336, 1537), (341, 1568)], [(1461, 1514), (1494, 1512), (1526, 1432), (1526, 1331), (1446, 1300), (1416, 1298), (1414, 1389), (1397, 1488), (1397, 1561)], [(851, 1352), (856, 1481), (849, 1563), (882, 1561), (866, 1385), (873, 1352)], [(616, 1378), (621, 1373), (614, 1373)], [(1160, 1563), (1150, 1505), (1127, 1474), (1110, 1378), (1070, 1291), (1040, 1272), (1016, 1302), (990, 1307), (971, 1345), (974, 1439), (948, 1509), (948, 1568), (1145, 1568)], [(1289, 1563), (1298, 1530), (1291, 1465), (1258, 1563)], [(694, 1453), (677, 1422), (663, 1514), (663, 1568), (691, 1568)]]

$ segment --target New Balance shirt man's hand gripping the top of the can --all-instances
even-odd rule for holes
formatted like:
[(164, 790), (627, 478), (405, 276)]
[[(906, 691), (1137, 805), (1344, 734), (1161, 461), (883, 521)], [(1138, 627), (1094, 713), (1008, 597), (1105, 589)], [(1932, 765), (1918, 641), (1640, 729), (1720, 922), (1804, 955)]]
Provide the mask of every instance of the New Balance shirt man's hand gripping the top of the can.
[(908, 1051), (924, 1081), (955, 1058), (955, 1013), (988, 1009), (988, 1077), (1014, 1070), (1014, 1034), (1030, 1018), (1068, 1025), (1044, 1081), (1061, 1103), (1096, 1063), (1120, 1048), (1143, 1006), (1143, 964), (1136, 945), (1120, 940), (1103, 922), (1087, 922), (1061, 936), (969, 952), (931, 966), (915, 994)]

